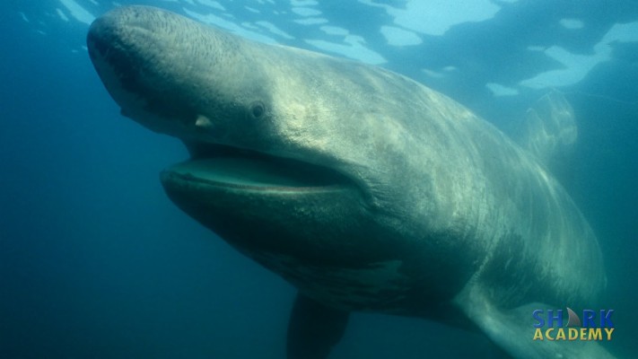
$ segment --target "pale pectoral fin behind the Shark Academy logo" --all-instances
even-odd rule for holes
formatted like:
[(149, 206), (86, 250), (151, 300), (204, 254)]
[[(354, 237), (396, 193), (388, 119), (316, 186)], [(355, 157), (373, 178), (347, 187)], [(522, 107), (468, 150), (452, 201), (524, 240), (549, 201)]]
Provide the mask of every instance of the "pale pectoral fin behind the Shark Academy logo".
[[(479, 285), (476, 285), (478, 287)], [(496, 308), (483, 291), (477, 288), (466, 288), (459, 294), (455, 302), (468, 315), (494, 344), (515, 358), (528, 359), (571, 359), (571, 358), (600, 358), (614, 359), (607, 350), (595, 341), (557, 340), (557, 329), (552, 339), (534, 340), (536, 328), (532, 313), (538, 309), (554, 308), (555, 306), (533, 302), (509, 310)], [(545, 329), (543, 335), (545, 335)], [(565, 330), (567, 328), (564, 328)]]

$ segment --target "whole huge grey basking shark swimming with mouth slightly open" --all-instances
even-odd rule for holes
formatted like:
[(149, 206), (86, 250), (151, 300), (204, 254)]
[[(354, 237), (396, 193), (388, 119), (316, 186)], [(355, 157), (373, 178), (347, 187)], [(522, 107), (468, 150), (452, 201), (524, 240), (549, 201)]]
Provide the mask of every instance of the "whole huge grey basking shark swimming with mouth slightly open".
[(604, 289), (599, 245), (541, 156), (459, 103), (152, 7), (106, 13), (87, 42), (121, 113), (188, 146), (170, 199), (298, 289), (288, 358), (327, 358), (351, 311), (480, 330), (518, 358), (611, 357), (532, 340), (532, 311)]

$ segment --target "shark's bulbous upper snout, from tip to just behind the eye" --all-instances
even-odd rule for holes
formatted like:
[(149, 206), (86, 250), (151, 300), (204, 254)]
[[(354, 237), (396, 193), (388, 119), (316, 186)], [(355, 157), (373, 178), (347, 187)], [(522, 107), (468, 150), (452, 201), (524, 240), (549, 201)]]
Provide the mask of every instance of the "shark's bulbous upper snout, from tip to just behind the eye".
[(154, 132), (247, 147), (236, 142), (269, 126), (272, 80), (259, 70), (262, 45), (161, 9), (126, 6), (92, 23), (87, 47), (122, 114)]

